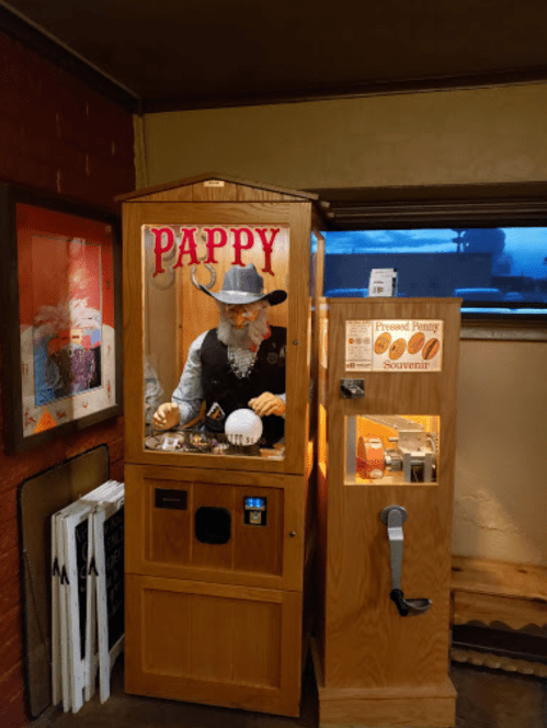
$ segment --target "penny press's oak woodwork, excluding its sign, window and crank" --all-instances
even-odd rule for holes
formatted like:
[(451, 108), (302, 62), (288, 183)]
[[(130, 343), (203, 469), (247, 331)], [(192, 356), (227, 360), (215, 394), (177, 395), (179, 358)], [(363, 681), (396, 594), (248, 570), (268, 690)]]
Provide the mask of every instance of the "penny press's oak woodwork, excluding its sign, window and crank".
[[(327, 511), (327, 515), (319, 515), (319, 523), (321, 519), (327, 521), (322, 526), (327, 536), (326, 616), (324, 633), (318, 630), (318, 659), (327, 690), (394, 690), (388, 702), (369, 703), (372, 696), (355, 695), (353, 707), (363, 712), (363, 725), (399, 725), (391, 720), (396, 715), (391, 708), (400, 697), (397, 691), (408, 686), (423, 690), (447, 682), (459, 306), (458, 302), (446, 299), (330, 299), (329, 306), (329, 366), (323, 389), (329, 401), (324, 456), (328, 471), (322, 500), (319, 475), (319, 508)], [(444, 320), (442, 372), (347, 372), (345, 321), (384, 319)], [(365, 397), (342, 399), (343, 377), (364, 378)], [(346, 418), (366, 414), (437, 416), (441, 431), (436, 481), (345, 485)], [(389, 599), (389, 542), (379, 515), (384, 508), (394, 504), (408, 512), (403, 525), (404, 596), (432, 600), (431, 608), (420, 616), (400, 616)], [(356, 721), (357, 713), (344, 713), (353, 709), (351, 701), (344, 708), (335, 696), (331, 698), (334, 703), (327, 707), (320, 694), (324, 725)], [(410, 697), (404, 699), (409, 703), (404, 725), (452, 725), (451, 720), (435, 724), (435, 719), (453, 712), (454, 693), (440, 698), (434, 709), (433, 703), (419, 707)], [(346, 697), (340, 695), (339, 701)], [(421, 715), (419, 723), (411, 721), (411, 704)], [(422, 710), (428, 705), (432, 708), (429, 723)], [(342, 720), (341, 716), (345, 718)]]

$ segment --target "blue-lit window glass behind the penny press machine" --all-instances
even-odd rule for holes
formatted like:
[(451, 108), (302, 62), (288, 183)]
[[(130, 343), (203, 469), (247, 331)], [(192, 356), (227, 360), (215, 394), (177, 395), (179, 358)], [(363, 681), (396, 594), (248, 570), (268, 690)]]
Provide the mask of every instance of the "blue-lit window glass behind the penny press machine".
[(326, 232), (324, 295), (365, 297), (395, 268), (400, 297), (460, 297), (464, 314), (547, 315), (547, 227)]

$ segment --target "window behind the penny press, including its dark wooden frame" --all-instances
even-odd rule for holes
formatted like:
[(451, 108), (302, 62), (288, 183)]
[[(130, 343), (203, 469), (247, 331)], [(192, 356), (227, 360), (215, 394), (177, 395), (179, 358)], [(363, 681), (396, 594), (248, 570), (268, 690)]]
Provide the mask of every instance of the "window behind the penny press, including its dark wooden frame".
[(466, 337), (545, 340), (547, 183), (312, 192), (326, 295), (366, 296), (371, 270), (395, 268), (401, 297), (460, 297)]

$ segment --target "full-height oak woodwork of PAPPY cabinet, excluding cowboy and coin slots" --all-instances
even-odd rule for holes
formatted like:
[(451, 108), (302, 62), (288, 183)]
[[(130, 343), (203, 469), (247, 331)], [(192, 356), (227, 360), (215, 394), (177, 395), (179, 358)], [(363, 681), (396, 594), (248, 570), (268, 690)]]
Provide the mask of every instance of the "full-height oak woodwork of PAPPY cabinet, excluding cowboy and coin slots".
[[(287, 716), (299, 713), (303, 639), (309, 633), (309, 627), (303, 630), (303, 582), (305, 545), (311, 543), (315, 198), (235, 180), (209, 185), (204, 179), (125, 197), (125, 672), (130, 693)], [(145, 280), (145, 225), (288, 228), (272, 261), (275, 277), (265, 272), (266, 291), (288, 291), (287, 302), (273, 307), (269, 319), (287, 328), (283, 459), (145, 450), (145, 357), (156, 354), (152, 365), (168, 401), (190, 342), (218, 321), (214, 300), (192, 285), (186, 265), (174, 276), (173, 291), (159, 300)], [(216, 291), (232, 258), (230, 251), (217, 266)], [(262, 261), (252, 262), (261, 272)], [(202, 266), (197, 278), (205, 273)], [(163, 356), (169, 361), (162, 362)], [(168, 491), (180, 508), (158, 508), (158, 490)], [(246, 496), (267, 500), (265, 526), (244, 523)], [(226, 543), (196, 538), (200, 508), (229, 514)]]

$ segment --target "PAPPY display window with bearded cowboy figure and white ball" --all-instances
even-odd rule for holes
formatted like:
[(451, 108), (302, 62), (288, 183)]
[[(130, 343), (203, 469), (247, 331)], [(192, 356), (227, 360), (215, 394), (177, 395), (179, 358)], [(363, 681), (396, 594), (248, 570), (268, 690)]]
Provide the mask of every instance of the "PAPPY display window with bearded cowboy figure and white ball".
[(283, 459), (288, 226), (141, 235), (145, 448)]

